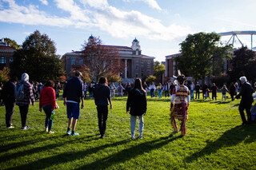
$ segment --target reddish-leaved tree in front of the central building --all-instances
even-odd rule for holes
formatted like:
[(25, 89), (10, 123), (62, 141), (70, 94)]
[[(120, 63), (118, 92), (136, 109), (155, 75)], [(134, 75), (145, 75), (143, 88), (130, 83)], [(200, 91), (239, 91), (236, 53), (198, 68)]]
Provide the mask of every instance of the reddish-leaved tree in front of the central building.
[(83, 45), (83, 52), (86, 66), (94, 81), (100, 77), (107, 77), (108, 74), (117, 74), (124, 68), (119, 57), (118, 50), (112, 46), (102, 45), (99, 38), (90, 36), (89, 41)]

